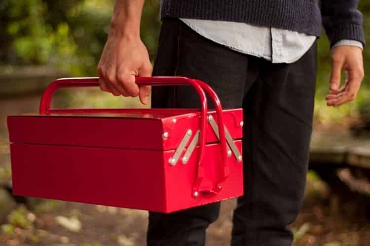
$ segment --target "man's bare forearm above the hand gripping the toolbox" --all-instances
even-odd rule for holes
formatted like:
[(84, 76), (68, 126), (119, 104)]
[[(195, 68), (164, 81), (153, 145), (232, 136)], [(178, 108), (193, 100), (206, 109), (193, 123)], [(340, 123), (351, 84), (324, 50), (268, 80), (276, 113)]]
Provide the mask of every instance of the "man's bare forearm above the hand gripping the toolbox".
[(110, 35), (140, 37), (140, 21), (145, 0), (116, 0)]

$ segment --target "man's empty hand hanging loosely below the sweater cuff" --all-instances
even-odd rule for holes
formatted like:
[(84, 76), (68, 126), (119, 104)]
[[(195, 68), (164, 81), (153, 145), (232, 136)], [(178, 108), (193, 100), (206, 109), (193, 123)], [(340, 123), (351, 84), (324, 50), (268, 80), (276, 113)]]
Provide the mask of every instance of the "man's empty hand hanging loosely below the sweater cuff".
[[(345, 85), (340, 87), (341, 71), (346, 72)], [(355, 99), (364, 79), (362, 50), (354, 46), (338, 46), (332, 49), (332, 75), (330, 93), (325, 97), (328, 106), (339, 106)]]

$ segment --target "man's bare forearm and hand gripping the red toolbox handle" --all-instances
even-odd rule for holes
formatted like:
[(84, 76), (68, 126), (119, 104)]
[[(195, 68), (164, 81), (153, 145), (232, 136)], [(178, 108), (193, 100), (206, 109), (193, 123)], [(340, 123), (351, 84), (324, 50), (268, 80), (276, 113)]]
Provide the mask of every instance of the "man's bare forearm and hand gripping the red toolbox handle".
[(151, 76), (148, 50), (140, 39), (144, 0), (116, 0), (111, 30), (98, 64), (99, 84), (113, 95), (137, 96), (149, 102), (150, 87), (140, 87), (136, 76)]

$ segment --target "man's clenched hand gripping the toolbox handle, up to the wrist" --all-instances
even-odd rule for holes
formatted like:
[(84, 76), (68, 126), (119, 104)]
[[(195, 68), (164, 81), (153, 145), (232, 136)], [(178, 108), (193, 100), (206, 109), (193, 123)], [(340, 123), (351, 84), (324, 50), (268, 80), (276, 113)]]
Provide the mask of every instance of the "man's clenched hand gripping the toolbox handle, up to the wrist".
[(149, 102), (150, 87), (140, 87), (136, 76), (151, 76), (152, 66), (148, 50), (140, 37), (109, 35), (98, 64), (102, 91), (113, 95), (138, 96), (143, 104)]

